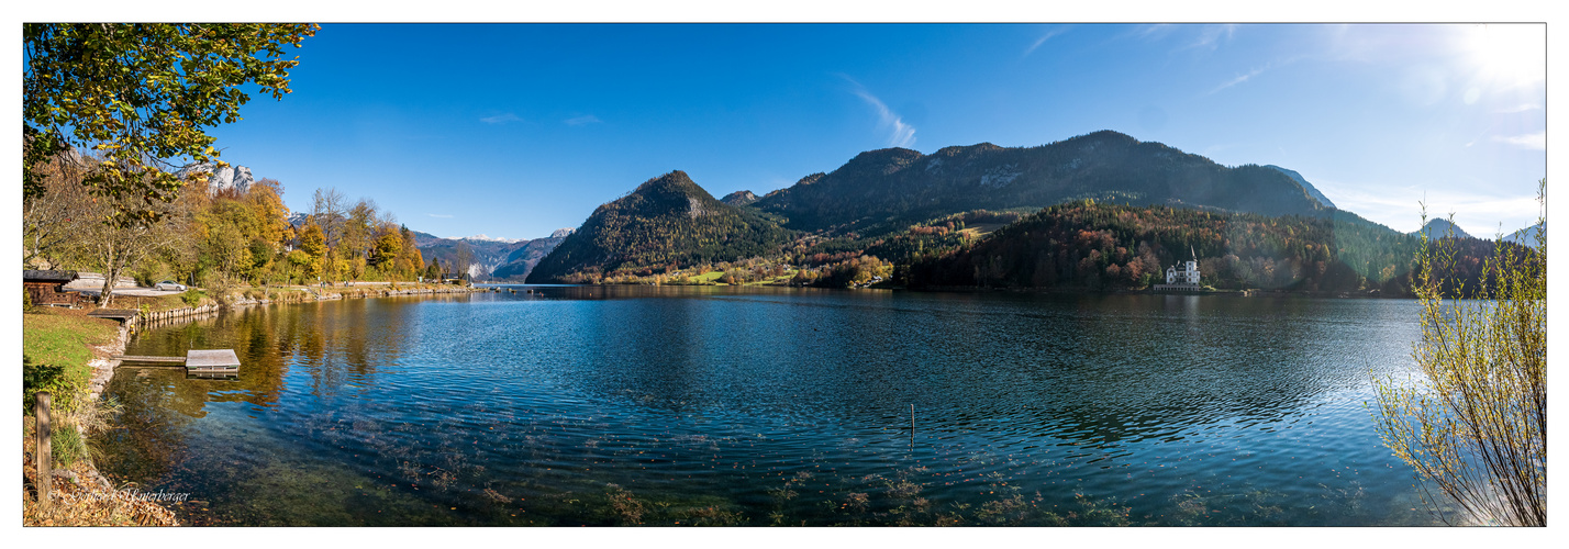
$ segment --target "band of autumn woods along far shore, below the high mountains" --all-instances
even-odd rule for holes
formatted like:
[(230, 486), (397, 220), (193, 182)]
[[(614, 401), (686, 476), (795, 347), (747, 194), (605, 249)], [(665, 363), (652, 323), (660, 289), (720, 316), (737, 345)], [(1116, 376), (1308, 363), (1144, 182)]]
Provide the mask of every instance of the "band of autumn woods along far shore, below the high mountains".
[[(1453, 289), (1480, 287), (1483, 265), (1497, 246), (1511, 246), (1520, 257), (1531, 253), (1469, 237), (1447, 238), (1445, 245), (1454, 257), (1442, 262), (1440, 274), (1454, 281)], [(1265, 216), (1084, 199), (1034, 213), (952, 213), (877, 237), (795, 234), (789, 243), (747, 259), (576, 276), (601, 284), (1117, 292), (1164, 284), (1167, 267), (1197, 259), (1202, 284), (1213, 289), (1411, 296), (1420, 249), (1420, 235), (1340, 210)]]

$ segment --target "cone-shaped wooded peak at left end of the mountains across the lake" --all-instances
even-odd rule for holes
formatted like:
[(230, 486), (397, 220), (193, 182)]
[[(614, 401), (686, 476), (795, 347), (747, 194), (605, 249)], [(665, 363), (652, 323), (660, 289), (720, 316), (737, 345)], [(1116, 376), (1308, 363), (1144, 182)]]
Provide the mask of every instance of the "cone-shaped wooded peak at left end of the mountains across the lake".
[(598, 281), (777, 254), (791, 238), (778, 221), (715, 201), (683, 171), (650, 179), (595, 209), (529, 274), (529, 282)]

